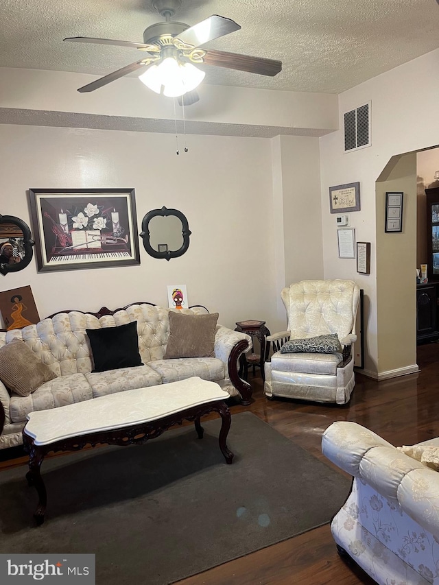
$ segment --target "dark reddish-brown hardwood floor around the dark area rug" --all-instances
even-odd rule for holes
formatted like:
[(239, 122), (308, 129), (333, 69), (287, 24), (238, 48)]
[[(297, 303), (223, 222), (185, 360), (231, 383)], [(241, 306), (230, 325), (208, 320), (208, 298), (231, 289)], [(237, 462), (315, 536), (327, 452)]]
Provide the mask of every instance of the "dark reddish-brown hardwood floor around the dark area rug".
[[(334, 420), (352, 420), (378, 433), (392, 444), (413, 444), (439, 436), (439, 344), (418, 347), (420, 372), (383, 382), (356, 373), (356, 386), (348, 405), (320, 405), (268, 401), (259, 373), (249, 381), (254, 388), (250, 406), (230, 405), (232, 414), (250, 410), (285, 437), (322, 460), (337, 473), (321, 452), (324, 429)], [(62, 456), (62, 455), (60, 455)], [(23, 464), (17, 457), (1, 468)], [(279, 470), (279, 480), (282, 472)], [(347, 497), (347, 494), (346, 494)], [(334, 510), (337, 512), (337, 510)], [(202, 546), (202, 543), (200, 543)], [(374, 582), (357, 566), (344, 562), (335, 549), (329, 525), (277, 545), (222, 564), (178, 582), (178, 585), (370, 585)]]

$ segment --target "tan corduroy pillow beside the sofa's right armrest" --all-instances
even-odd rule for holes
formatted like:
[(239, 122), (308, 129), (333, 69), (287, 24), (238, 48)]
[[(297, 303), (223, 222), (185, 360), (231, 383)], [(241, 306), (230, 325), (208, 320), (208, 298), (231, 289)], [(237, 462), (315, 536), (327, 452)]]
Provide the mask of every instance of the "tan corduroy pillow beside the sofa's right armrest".
[(218, 313), (185, 315), (169, 311), (169, 337), (163, 359), (215, 357)]

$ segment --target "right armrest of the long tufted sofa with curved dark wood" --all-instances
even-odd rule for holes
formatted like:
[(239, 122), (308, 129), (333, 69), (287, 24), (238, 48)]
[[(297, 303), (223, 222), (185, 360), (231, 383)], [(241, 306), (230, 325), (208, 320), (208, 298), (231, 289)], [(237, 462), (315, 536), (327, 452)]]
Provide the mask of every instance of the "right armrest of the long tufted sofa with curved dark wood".
[(223, 325), (218, 325), (215, 331), (215, 357), (226, 364), (226, 377), (235, 386), (241, 396), (241, 403), (250, 404), (252, 387), (238, 375), (239, 356), (250, 351), (252, 338), (246, 333), (233, 331)]

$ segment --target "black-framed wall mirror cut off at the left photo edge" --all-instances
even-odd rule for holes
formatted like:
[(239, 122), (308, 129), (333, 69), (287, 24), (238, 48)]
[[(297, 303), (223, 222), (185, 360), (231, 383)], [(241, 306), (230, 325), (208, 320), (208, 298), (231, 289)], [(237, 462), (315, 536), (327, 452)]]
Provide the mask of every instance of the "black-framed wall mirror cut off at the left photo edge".
[(23, 270), (34, 255), (29, 226), (13, 215), (0, 215), (0, 274)]

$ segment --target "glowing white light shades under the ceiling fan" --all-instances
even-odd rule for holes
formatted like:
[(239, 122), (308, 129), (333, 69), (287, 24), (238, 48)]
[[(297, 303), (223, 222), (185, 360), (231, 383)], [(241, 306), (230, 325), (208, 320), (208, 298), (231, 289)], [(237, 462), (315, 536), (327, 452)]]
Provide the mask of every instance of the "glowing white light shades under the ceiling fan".
[(161, 93), (163, 86), (163, 95), (180, 97), (198, 87), (204, 75), (204, 71), (191, 63), (181, 64), (174, 57), (167, 57), (160, 64), (149, 67), (139, 80), (156, 93)]

